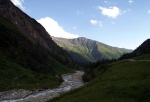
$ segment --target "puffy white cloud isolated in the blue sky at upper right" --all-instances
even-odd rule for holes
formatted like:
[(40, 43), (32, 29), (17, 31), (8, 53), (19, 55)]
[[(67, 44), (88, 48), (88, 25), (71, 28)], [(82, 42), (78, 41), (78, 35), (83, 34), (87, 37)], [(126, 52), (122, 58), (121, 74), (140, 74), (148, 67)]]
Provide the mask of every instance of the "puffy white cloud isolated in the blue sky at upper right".
[(101, 13), (103, 15), (108, 16), (110, 18), (117, 18), (121, 14), (121, 10), (116, 6), (109, 8), (98, 6), (98, 9), (102, 10)]

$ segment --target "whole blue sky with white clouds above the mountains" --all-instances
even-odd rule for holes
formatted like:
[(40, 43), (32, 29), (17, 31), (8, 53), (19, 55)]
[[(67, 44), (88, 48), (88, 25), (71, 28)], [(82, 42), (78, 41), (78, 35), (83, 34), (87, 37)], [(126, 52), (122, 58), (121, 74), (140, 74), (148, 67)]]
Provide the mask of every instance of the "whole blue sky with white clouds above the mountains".
[(150, 37), (150, 0), (11, 0), (51, 36), (136, 49)]

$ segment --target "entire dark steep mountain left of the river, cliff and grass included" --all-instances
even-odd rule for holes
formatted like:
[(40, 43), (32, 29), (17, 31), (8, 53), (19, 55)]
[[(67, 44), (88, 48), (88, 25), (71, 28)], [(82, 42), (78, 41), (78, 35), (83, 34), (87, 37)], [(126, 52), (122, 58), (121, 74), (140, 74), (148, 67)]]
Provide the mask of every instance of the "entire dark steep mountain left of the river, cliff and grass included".
[(0, 90), (41, 89), (61, 83), (76, 68), (36, 20), (0, 0)]

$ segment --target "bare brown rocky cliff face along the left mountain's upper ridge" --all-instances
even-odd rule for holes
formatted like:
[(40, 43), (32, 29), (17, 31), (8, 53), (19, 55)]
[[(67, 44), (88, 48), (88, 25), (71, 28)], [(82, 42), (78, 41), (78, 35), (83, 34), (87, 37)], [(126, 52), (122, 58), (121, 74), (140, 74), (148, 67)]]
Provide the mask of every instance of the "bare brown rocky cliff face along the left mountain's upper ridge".
[(44, 27), (14, 6), (10, 0), (0, 1), (0, 16), (15, 24), (33, 43), (39, 43), (46, 48), (56, 51), (59, 50), (59, 47), (52, 41)]

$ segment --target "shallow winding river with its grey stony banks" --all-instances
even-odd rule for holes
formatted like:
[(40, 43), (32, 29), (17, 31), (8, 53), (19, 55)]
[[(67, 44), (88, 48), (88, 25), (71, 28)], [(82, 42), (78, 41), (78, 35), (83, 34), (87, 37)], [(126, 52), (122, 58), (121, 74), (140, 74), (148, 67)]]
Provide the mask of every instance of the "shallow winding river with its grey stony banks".
[[(60, 94), (64, 92), (83, 86), (84, 85), (82, 81), (83, 74), (84, 72), (82, 71), (76, 71), (76, 73), (62, 75), (64, 82), (58, 88), (47, 89), (32, 93), (30, 91), (22, 90), (22, 92), (24, 91), (23, 93), (25, 93), (26, 95), (22, 95), (20, 97), (17, 96), (17, 94), (15, 94), (16, 90), (10, 92), (3, 92), (1, 93), (0, 102), (46, 102), (47, 100), (50, 100), (54, 97), (58, 97)], [(9, 93), (7, 94), (8, 97), (6, 93)], [(19, 94), (21, 92), (17, 93)], [(3, 94), (5, 94), (5, 97), (2, 97)], [(13, 97), (10, 97), (9, 95)], [(17, 97), (15, 97), (15, 95)]]

